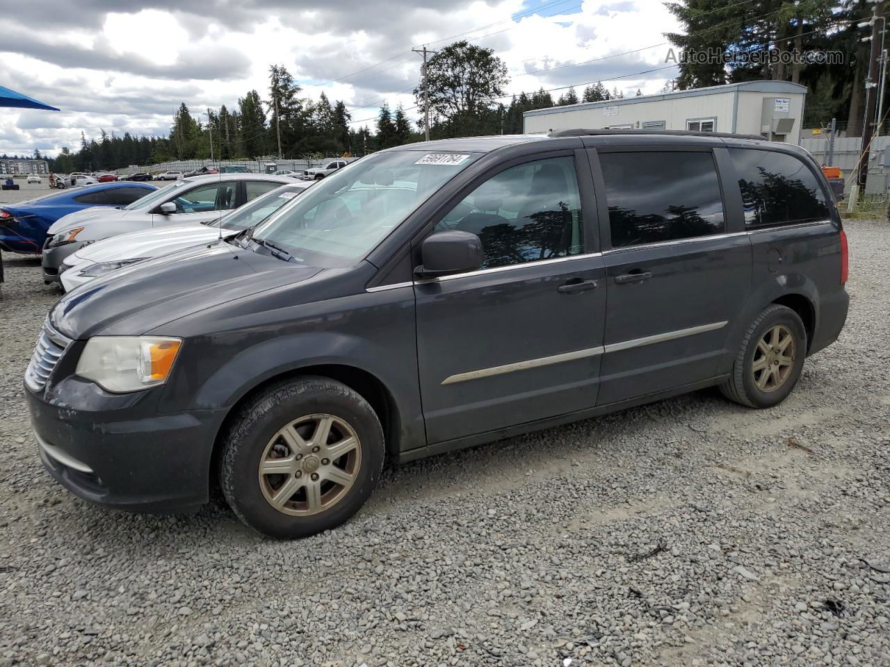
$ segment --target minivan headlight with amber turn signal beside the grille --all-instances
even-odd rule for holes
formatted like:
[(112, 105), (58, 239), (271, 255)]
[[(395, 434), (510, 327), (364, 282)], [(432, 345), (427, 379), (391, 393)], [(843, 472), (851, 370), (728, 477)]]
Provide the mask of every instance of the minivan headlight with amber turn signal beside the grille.
[(93, 336), (75, 373), (105, 390), (143, 390), (166, 382), (181, 347), (180, 338)]

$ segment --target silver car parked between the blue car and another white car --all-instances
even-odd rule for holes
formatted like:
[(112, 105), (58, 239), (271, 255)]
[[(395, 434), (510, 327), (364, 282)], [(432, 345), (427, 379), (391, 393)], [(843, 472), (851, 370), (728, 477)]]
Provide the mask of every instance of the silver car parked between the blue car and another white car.
[(92, 206), (63, 215), (47, 230), (44, 282), (58, 279), (62, 261), (84, 245), (142, 229), (214, 221), (279, 185), (293, 182), (287, 176), (263, 173), (195, 176), (174, 181), (122, 209)]

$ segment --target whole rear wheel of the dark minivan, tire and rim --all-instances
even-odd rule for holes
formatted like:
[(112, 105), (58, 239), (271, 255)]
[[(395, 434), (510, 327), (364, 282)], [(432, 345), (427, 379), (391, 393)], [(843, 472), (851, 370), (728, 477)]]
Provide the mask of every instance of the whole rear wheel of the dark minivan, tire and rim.
[(797, 313), (773, 303), (755, 317), (742, 338), (726, 398), (748, 407), (781, 403), (797, 384), (806, 357), (806, 329)]

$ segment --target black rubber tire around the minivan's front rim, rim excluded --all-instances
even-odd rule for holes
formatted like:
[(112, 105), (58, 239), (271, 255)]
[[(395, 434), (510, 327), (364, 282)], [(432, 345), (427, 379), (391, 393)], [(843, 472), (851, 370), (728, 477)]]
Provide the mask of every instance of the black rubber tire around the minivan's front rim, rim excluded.
[[(266, 500), (259, 464), (279, 430), (314, 414), (333, 415), (352, 428), (359, 440), (360, 464), (352, 486), (328, 509), (293, 516)], [(341, 382), (307, 376), (275, 384), (240, 409), (223, 441), (220, 486), (231, 509), (255, 531), (284, 540), (305, 537), (339, 526), (360, 509), (380, 479), (384, 451), (383, 429), (368, 401)], [(280, 477), (289, 479), (289, 475)], [(300, 493), (308, 493), (308, 487), (299, 489)]]

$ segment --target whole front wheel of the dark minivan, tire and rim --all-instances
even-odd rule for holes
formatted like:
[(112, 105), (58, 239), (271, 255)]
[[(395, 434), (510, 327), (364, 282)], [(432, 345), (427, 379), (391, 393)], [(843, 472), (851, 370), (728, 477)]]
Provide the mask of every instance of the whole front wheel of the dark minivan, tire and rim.
[(383, 462), (383, 430), (368, 402), (340, 382), (305, 377), (240, 411), (223, 443), (220, 486), (247, 526), (293, 539), (352, 517)]

